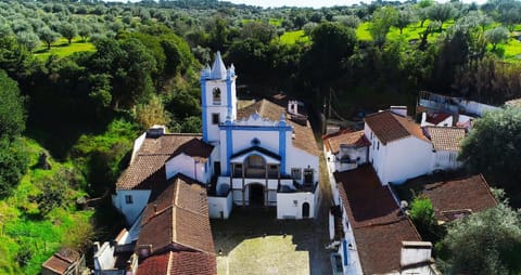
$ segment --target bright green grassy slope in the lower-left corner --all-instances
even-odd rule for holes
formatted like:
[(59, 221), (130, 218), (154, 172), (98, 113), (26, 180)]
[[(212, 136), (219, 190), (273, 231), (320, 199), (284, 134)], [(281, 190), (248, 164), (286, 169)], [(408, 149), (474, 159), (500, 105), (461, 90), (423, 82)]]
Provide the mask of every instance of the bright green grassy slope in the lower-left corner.
[[(73, 246), (77, 236), (91, 231), (89, 223), (93, 211), (76, 211), (74, 198), (84, 194), (67, 189), (71, 201), (63, 208), (54, 208), (46, 218), (38, 215), (38, 207), (30, 197), (40, 193), (45, 181), (60, 169), (72, 163), (50, 160), (51, 170), (33, 168), (43, 148), (35, 141), (25, 140), (29, 152), (29, 170), (23, 176), (13, 195), (0, 200), (0, 274), (38, 274), (41, 263), (62, 246)], [(31, 252), (26, 266), (18, 266), (15, 257), (22, 248)]]

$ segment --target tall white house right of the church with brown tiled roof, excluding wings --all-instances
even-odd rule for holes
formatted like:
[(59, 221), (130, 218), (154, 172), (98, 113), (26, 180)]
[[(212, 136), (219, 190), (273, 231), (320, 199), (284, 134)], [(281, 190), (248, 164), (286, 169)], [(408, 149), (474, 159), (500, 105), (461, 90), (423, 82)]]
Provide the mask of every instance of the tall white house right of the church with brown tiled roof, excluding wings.
[(432, 145), (406, 109), (368, 115), (364, 133), (371, 143), (369, 162), (382, 184), (403, 183), (432, 171)]

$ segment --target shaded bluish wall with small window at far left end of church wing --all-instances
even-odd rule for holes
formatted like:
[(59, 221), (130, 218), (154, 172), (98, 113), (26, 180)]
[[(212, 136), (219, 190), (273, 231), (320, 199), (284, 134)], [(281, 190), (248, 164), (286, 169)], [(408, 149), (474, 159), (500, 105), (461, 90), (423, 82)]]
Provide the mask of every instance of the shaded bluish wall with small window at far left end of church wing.
[[(131, 225), (139, 217), (141, 211), (143, 211), (144, 207), (147, 207), (150, 193), (150, 191), (143, 189), (118, 189), (116, 191), (116, 195), (112, 196), (112, 202), (114, 204), (114, 207), (116, 207), (125, 215), (127, 225)], [(127, 195), (132, 196), (132, 204), (126, 202), (125, 196)]]

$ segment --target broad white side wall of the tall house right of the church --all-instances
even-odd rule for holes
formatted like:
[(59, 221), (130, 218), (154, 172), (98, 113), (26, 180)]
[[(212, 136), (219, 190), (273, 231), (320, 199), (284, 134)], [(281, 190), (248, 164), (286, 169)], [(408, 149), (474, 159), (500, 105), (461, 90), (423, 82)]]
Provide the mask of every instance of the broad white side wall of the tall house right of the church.
[(384, 155), (382, 184), (403, 183), (407, 179), (430, 173), (432, 170), (432, 145), (416, 136), (390, 142)]

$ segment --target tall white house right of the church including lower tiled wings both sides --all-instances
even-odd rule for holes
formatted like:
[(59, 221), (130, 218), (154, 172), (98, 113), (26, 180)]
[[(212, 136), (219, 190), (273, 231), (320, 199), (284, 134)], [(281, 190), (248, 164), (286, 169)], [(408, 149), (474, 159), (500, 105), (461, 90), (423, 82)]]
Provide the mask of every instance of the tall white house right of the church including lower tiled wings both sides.
[(383, 185), (401, 184), (437, 170), (460, 168), (457, 158), (466, 133), (461, 127), (422, 127), (407, 117), (405, 107), (392, 106), (368, 115), (361, 131), (325, 136), (325, 149), (333, 171), (370, 162)]

